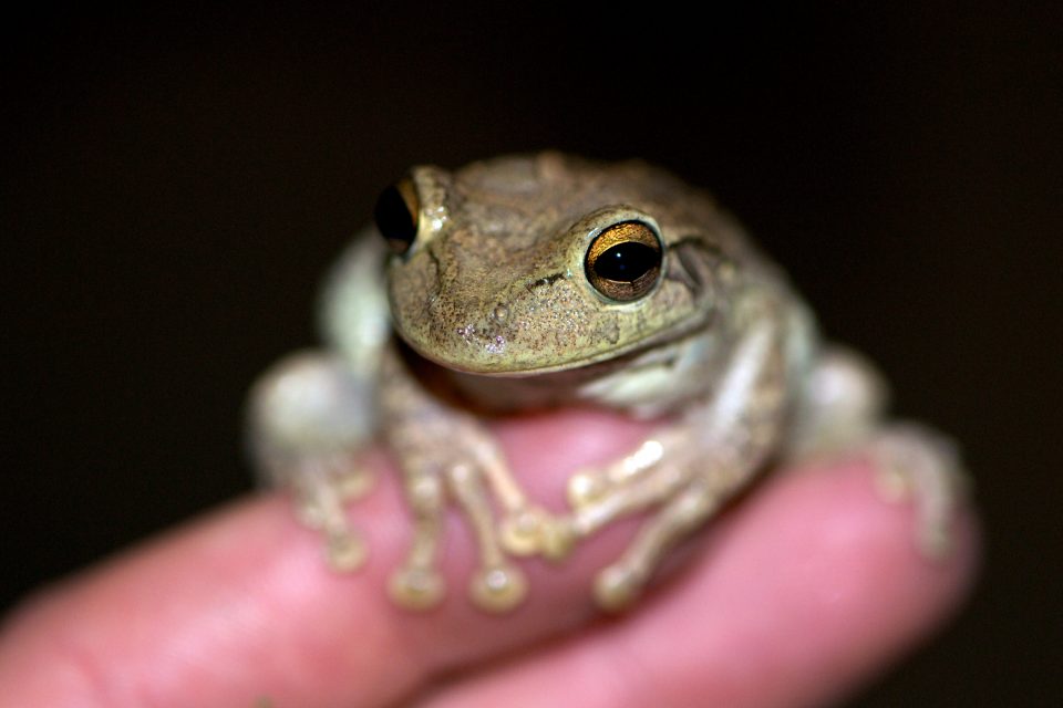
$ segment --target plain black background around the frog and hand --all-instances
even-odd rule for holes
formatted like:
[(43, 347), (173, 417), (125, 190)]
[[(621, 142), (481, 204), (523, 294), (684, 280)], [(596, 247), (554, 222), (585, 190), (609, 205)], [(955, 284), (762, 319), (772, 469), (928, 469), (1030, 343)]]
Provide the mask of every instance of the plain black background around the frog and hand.
[(1063, 705), (1063, 12), (450, 4), (8, 14), (0, 607), (250, 488), (244, 392), (381, 186), (553, 146), (713, 189), (963, 441), (981, 584), (854, 705)]

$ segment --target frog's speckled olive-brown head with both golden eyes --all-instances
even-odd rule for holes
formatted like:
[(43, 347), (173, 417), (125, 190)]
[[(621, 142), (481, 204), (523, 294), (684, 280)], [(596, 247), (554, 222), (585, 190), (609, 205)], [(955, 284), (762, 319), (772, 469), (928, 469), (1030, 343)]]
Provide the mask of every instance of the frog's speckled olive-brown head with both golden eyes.
[(375, 217), (396, 331), (477, 374), (576, 368), (704, 326), (739, 243), (661, 170), (556, 153), (416, 167)]

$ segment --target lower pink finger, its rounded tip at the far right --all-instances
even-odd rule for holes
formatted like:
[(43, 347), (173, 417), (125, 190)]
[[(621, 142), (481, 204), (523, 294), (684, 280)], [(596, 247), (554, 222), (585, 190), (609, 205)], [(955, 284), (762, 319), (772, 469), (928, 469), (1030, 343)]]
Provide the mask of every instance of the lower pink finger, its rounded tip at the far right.
[(910, 509), (873, 488), (861, 466), (775, 478), (632, 616), (462, 678), (423, 705), (837, 700), (954, 612), (977, 565), (970, 517), (954, 553), (931, 563), (915, 551)]

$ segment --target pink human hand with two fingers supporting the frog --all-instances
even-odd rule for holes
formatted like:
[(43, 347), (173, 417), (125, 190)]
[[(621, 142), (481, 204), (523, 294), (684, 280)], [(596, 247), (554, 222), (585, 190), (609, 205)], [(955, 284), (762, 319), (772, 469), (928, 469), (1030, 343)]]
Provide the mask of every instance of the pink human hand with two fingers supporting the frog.
[[(559, 508), (569, 473), (649, 428), (570, 410), (499, 423), (517, 477)], [(979, 559), (964, 510), (929, 561), (914, 514), (854, 457), (773, 471), (677, 555), (628, 614), (603, 617), (590, 584), (637, 520), (564, 565), (525, 563), (516, 612), (473, 608), (474, 560), (447, 529), (451, 592), (426, 614), (388, 600), (410, 532), (393, 470), (351, 508), (371, 556), (328, 570), (318, 535), (277, 493), (234, 502), (45, 589), (0, 631), (0, 707), (266, 708), (414, 705), (809, 706), (838, 701), (954, 614)]]

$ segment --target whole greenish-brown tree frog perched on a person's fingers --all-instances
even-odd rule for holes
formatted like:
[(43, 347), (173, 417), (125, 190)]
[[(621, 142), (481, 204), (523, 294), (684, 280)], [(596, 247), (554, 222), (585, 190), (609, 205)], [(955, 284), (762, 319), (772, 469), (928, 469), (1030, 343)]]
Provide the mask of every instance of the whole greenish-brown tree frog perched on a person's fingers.
[[(591, 595), (621, 611), (663, 559), (770, 467), (866, 454), (887, 496), (911, 498), (916, 541), (949, 545), (964, 476), (956, 446), (886, 416), (873, 364), (827, 342), (786, 274), (708, 191), (642, 160), (555, 150), (456, 170), (411, 168), (323, 288), (324, 345), (255, 384), (260, 479), (289, 490), (328, 564), (360, 568), (348, 506), (369, 493), (365, 450), (396, 462), (411, 517), (386, 592), (426, 611), (452, 509), (472, 530), (468, 600), (488, 613), (529, 593), (522, 559), (563, 563), (639, 517)], [(567, 480), (563, 509), (529, 498), (487, 420), (592, 406), (652, 420), (627, 454)]]

